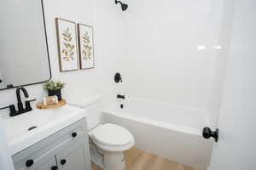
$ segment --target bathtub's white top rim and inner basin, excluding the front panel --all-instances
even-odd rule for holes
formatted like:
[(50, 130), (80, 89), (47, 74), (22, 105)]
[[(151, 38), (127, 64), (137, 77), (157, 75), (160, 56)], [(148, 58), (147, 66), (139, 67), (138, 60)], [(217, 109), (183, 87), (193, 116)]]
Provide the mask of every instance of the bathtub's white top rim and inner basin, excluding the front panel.
[[(139, 116), (142, 122), (150, 122), (155, 126), (169, 129), (175, 128), (183, 133), (198, 136), (201, 136), (203, 127), (209, 125), (207, 112), (200, 109), (137, 98), (118, 101), (103, 112), (111, 112), (117, 116), (121, 113), (129, 119), (137, 119)], [(123, 108), (120, 105), (123, 105)]]

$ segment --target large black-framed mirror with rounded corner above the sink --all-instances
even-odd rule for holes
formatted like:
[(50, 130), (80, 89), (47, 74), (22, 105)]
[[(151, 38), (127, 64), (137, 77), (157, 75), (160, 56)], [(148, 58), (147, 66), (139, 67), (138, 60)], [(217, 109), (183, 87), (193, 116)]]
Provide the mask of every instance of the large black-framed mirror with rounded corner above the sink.
[(0, 19), (0, 90), (48, 81), (43, 0), (1, 1)]

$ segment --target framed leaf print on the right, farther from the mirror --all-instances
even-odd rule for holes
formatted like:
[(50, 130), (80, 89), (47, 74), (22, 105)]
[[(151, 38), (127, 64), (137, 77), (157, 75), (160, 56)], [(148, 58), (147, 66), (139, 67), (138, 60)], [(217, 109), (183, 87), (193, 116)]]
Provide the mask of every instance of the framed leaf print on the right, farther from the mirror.
[(80, 69), (94, 68), (93, 27), (79, 24), (78, 30)]

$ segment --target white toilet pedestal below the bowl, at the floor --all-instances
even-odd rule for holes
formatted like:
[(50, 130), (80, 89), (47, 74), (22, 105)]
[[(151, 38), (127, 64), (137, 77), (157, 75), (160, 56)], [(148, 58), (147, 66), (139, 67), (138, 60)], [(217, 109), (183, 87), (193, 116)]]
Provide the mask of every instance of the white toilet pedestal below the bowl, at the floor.
[(104, 153), (104, 170), (125, 170), (123, 152)]

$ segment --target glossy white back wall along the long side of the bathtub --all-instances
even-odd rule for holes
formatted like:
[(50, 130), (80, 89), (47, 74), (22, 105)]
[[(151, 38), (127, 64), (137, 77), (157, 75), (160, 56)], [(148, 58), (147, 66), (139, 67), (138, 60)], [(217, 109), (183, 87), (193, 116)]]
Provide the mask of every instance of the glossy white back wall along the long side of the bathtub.
[(126, 2), (122, 93), (206, 110), (214, 126), (229, 37), (224, 1)]

